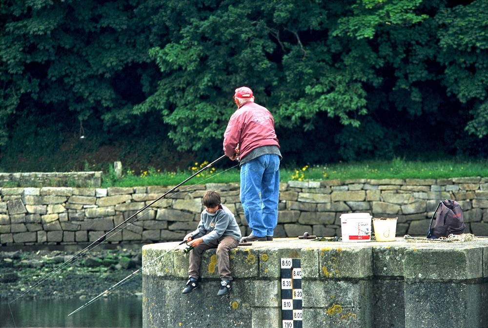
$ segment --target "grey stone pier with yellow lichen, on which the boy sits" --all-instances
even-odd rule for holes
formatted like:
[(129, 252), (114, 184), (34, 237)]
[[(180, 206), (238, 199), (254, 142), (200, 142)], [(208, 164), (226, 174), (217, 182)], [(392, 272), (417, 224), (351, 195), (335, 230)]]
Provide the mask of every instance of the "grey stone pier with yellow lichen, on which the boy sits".
[(183, 295), (188, 255), (178, 243), (142, 248), (143, 322), (150, 327), (278, 328), (281, 258), (300, 258), (303, 327), (486, 328), (488, 238), (472, 242), (346, 243), (275, 238), (231, 251), (233, 290), (217, 297), (215, 250), (201, 288)]

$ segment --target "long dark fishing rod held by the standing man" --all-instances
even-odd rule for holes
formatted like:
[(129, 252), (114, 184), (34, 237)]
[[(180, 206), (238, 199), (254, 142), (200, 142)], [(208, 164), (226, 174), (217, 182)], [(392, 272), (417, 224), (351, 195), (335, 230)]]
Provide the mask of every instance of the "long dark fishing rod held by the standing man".
[[(140, 214), (143, 210), (147, 209), (148, 207), (150, 207), (151, 205), (153, 205), (154, 203), (156, 203), (157, 201), (161, 200), (164, 196), (166, 196), (167, 194), (169, 194), (170, 192), (173, 192), (175, 191), (178, 187), (180, 187), (183, 183), (185, 182), (188, 182), (189, 180), (193, 179), (195, 176), (197, 176), (198, 174), (200, 174), (202, 171), (204, 171), (205, 169), (209, 168), (210, 166), (212, 166), (213, 164), (219, 162), (220, 160), (224, 159), (226, 157), (226, 155), (223, 155), (221, 157), (219, 157), (218, 159), (216, 159), (215, 161), (213, 161), (212, 163), (210, 164), (207, 164), (206, 166), (204, 166), (202, 169), (200, 169), (198, 172), (194, 173), (193, 175), (191, 175), (189, 178), (185, 179), (183, 182), (179, 183), (178, 185), (174, 186), (173, 188), (171, 188), (170, 190), (168, 190), (167, 192), (165, 192), (163, 195), (161, 195), (160, 197), (158, 197), (156, 200), (153, 200), (152, 202), (150, 202), (149, 204), (147, 204), (146, 206), (144, 206), (142, 209), (140, 209), (139, 211), (137, 211), (136, 213), (134, 213), (132, 216), (130, 216), (129, 218), (125, 219), (124, 221), (122, 221), (121, 223), (119, 223), (115, 228), (113, 228), (112, 230), (108, 231), (105, 235), (103, 235), (102, 237), (99, 237), (97, 240), (95, 240), (94, 242), (92, 242), (90, 245), (86, 246), (85, 248), (83, 248), (80, 252), (78, 252), (77, 254), (73, 255), (71, 258), (69, 258), (68, 260), (66, 260), (64, 263), (62, 263), (59, 267), (57, 267), (56, 269), (54, 269), (53, 271), (51, 271), (50, 273), (46, 274), (44, 277), (42, 277), (40, 280), (38, 280), (36, 283), (34, 283), (34, 285), (32, 285), (31, 287), (29, 287), (27, 290), (25, 290), (24, 292), (22, 292), (19, 296), (17, 296), (16, 298), (14, 298), (12, 301), (8, 302), (8, 304), (10, 305), (10, 303), (12, 302), (15, 302), (17, 299), (19, 299), (21, 296), (23, 296), (24, 294), (26, 294), (27, 292), (30, 292), (31, 290), (33, 290), (35, 287), (39, 286), (41, 283), (43, 283), (44, 281), (46, 281), (47, 279), (49, 279), (52, 275), (54, 275), (55, 273), (61, 271), (62, 269), (64, 269), (65, 267), (69, 266), (71, 263), (73, 263), (74, 261), (78, 260), (80, 257), (82, 257), (83, 255), (86, 255), (88, 252), (90, 252), (92, 249), (94, 249), (95, 247), (97, 247), (98, 245), (100, 245), (106, 238), (107, 235), (111, 234), (112, 232), (114, 232), (115, 230), (117, 230), (120, 226), (122, 226), (123, 224), (125, 224), (127, 221), (129, 221), (130, 219), (136, 217), (138, 214)], [(132, 224), (134, 223), (138, 218), (135, 218), (132, 222), (129, 222), (129, 224)], [(120, 229), (120, 231), (122, 231), (122, 229), (124, 229), (124, 227), (122, 227)], [(118, 233), (119, 231), (115, 232), (114, 234), (112, 234), (110, 237), (112, 237), (113, 235), (115, 235), (116, 233)]]

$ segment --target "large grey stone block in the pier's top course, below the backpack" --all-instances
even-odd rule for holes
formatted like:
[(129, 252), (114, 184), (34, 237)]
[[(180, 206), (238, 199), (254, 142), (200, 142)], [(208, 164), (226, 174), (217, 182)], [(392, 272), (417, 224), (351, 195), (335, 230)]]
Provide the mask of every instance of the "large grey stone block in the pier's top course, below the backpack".
[[(405, 279), (476, 279), (483, 276), (482, 249), (412, 246), (405, 249)], [(452, 265), (456, 263), (456, 265)]]

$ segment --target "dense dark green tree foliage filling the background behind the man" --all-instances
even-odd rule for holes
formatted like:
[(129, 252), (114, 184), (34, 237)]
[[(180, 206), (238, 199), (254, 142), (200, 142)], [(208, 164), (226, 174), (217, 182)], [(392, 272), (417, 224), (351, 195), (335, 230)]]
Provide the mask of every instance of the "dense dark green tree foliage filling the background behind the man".
[(486, 0), (5, 0), (1, 155), (68, 126), (213, 154), (245, 85), (288, 163), (486, 157), (487, 31)]

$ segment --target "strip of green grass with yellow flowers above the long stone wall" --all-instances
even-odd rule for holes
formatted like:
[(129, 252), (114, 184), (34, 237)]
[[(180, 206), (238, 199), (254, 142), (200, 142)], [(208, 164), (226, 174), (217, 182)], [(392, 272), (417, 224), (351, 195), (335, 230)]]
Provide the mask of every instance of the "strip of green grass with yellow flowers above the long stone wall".
[[(177, 185), (198, 172), (208, 163), (195, 163), (194, 166), (178, 172), (161, 172), (151, 168), (135, 174), (125, 170), (121, 179), (115, 178), (113, 169), (103, 179), (102, 187)], [(330, 165), (305, 165), (301, 168), (281, 168), (281, 182), (288, 181), (323, 181), (332, 179), (446, 179), (457, 177), (488, 177), (488, 160), (472, 162), (436, 161), (407, 162), (400, 158), (392, 161), (368, 161), (361, 163), (337, 163)], [(217, 170), (210, 167), (185, 184), (239, 182), (240, 171), (237, 167)]]

